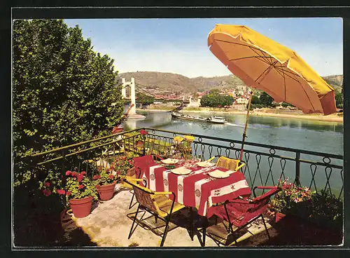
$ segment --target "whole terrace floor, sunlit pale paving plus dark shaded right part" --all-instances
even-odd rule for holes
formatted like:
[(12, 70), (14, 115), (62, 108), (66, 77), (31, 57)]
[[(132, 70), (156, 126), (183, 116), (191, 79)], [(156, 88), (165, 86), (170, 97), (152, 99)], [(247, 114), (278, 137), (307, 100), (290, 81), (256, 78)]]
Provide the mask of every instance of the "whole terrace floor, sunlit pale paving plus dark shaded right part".
[[(69, 234), (70, 232), (76, 233), (76, 229), (81, 229), (82, 232), (78, 236), (70, 236), (70, 238), (86, 238), (73, 239), (69, 245), (97, 245), (101, 247), (157, 247), (160, 245), (160, 236), (157, 236), (159, 231), (155, 229), (153, 231), (150, 228), (160, 227), (164, 224), (160, 219), (155, 223), (154, 217), (146, 219), (143, 222), (143, 226), (148, 230), (137, 226), (137, 229), (132, 234), (130, 239), (127, 236), (130, 232), (132, 225), (132, 216), (127, 217), (127, 214), (134, 212), (137, 209), (137, 205), (129, 210), (130, 200), (132, 193), (130, 189), (120, 187), (117, 184), (115, 196), (106, 202), (99, 202), (92, 208), (92, 212), (89, 216), (84, 218), (75, 218), (67, 212), (62, 220), (62, 226), (64, 231)], [(140, 215), (139, 215), (140, 216)], [(146, 215), (145, 215), (146, 217)], [(200, 241), (195, 236), (194, 240), (191, 240), (188, 233), (189, 212), (183, 209), (175, 213), (172, 218), (170, 229), (167, 238), (165, 240), (165, 247), (200, 247)], [(209, 220), (209, 224), (215, 224), (214, 218)], [(342, 236), (332, 233), (329, 230), (322, 229), (314, 224), (304, 223), (295, 217), (285, 217), (281, 219), (279, 223), (274, 223), (273, 218), (265, 217), (267, 221), (267, 228), (269, 228), (269, 234), (271, 238), (267, 238), (265, 228), (262, 224), (262, 220), (259, 219), (253, 222), (246, 229), (239, 233), (236, 246), (297, 246), (297, 245), (340, 245), (342, 243)], [(195, 217), (196, 226), (200, 227), (201, 218)], [(220, 221), (218, 221), (220, 222)], [(215, 233), (218, 236), (227, 238), (225, 227), (222, 223), (218, 223), (219, 226), (209, 227), (207, 232)], [(164, 230), (164, 227), (161, 228)], [(89, 239), (87, 239), (89, 238)], [(232, 238), (229, 236), (228, 240), (216, 238), (224, 245), (232, 243)], [(78, 242), (77, 242), (78, 240)], [(232, 246), (235, 246), (233, 243)], [(207, 236), (206, 247), (218, 247), (213, 239)]]

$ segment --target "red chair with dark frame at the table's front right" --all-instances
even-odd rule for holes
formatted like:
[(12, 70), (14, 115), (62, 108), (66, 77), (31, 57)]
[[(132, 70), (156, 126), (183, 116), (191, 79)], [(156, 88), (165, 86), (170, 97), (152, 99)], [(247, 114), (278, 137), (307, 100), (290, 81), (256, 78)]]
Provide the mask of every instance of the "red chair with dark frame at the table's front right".
[[(255, 189), (269, 189), (265, 194), (256, 197)], [(235, 199), (230, 201), (225, 201), (225, 203), (214, 207), (214, 215), (220, 217), (221, 219), (228, 222), (228, 233), (234, 233), (232, 225), (236, 226), (237, 229), (235, 233), (241, 229), (244, 229), (248, 224), (251, 224), (255, 219), (262, 218), (264, 223), (267, 236), (269, 237), (269, 232), (267, 231), (267, 226), (265, 219), (262, 216), (263, 213), (267, 210), (267, 205), (269, 204), (269, 199), (279, 191), (277, 186), (255, 186), (253, 189), (254, 198), (248, 199)], [(226, 226), (225, 226), (226, 227)], [(203, 237), (205, 241), (206, 229), (203, 229)], [(208, 233), (208, 236), (211, 236)], [(237, 244), (237, 239), (233, 243)], [(216, 244), (219, 244), (216, 241)], [(204, 242), (205, 245), (205, 242)]]

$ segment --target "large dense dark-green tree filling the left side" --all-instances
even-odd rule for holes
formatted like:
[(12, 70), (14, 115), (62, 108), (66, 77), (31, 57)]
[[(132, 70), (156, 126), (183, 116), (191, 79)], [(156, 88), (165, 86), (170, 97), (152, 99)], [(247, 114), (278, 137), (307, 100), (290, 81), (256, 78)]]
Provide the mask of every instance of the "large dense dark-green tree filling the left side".
[(78, 26), (69, 28), (63, 20), (15, 20), (15, 185), (32, 175), (21, 156), (111, 132), (123, 114), (113, 70), (113, 60), (95, 53)]

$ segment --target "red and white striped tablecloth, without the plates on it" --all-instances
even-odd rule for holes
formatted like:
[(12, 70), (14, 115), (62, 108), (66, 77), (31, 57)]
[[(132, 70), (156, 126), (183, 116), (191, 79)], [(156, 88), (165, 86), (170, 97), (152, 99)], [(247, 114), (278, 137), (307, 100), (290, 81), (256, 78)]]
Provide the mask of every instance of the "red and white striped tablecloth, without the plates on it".
[[(232, 172), (225, 168), (211, 170), (216, 169)], [(251, 189), (241, 172), (232, 172), (230, 177), (223, 179), (210, 179), (204, 174), (203, 168), (195, 167), (192, 171), (191, 175), (176, 175), (162, 165), (153, 165), (144, 170), (141, 177), (146, 179), (148, 189), (172, 191), (176, 196), (176, 202), (196, 207), (199, 215), (207, 217), (213, 215), (211, 212), (213, 203), (251, 195)]]

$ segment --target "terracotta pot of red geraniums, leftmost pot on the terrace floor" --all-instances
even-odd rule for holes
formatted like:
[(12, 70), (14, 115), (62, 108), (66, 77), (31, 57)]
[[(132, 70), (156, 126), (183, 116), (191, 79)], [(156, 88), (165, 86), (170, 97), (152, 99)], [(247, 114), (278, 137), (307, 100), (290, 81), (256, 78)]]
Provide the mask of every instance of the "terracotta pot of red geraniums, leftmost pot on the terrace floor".
[(57, 194), (64, 196), (66, 204), (71, 206), (74, 217), (86, 217), (91, 212), (92, 201), (97, 199), (94, 184), (86, 177), (86, 172), (66, 171), (64, 189), (57, 189)]

